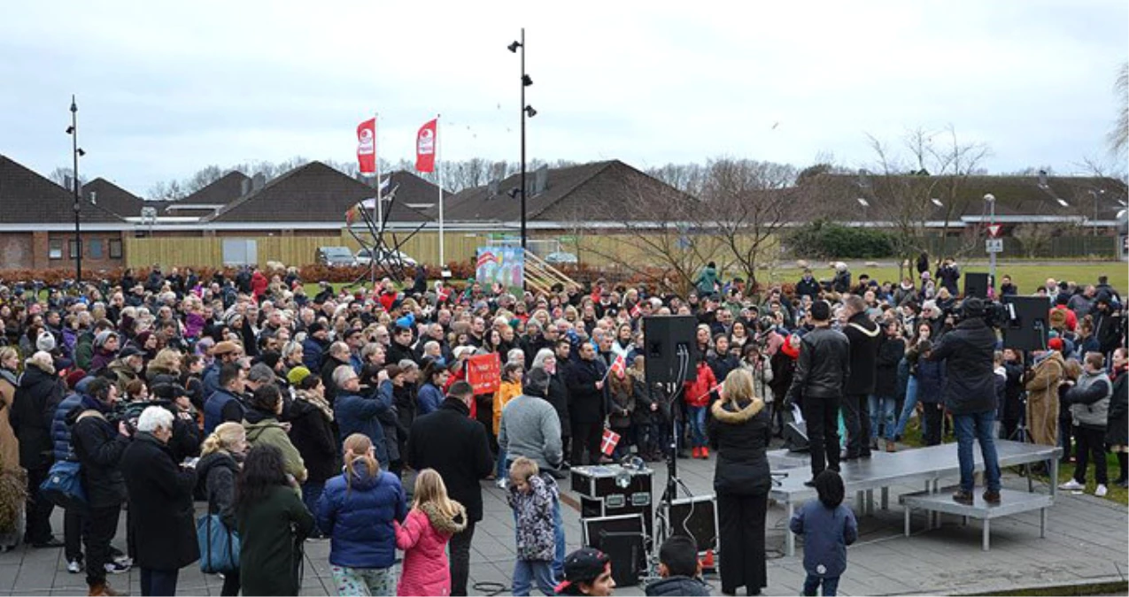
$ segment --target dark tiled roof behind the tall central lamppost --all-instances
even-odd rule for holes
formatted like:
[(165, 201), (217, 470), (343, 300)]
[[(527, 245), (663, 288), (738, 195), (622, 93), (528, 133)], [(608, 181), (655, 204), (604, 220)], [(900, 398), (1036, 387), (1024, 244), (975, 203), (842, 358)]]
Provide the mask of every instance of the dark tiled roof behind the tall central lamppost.
[[(602, 213), (614, 214), (615, 220), (646, 219), (645, 197), (655, 193), (677, 193), (673, 187), (653, 178), (620, 160), (594, 161), (548, 173), (545, 188), (534, 193), (536, 174), (526, 172), (526, 217), (530, 221), (572, 221), (577, 219), (606, 219)], [(520, 175), (515, 174), (491, 193), (489, 185), (467, 188), (444, 204), (448, 221), (501, 221), (522, 219), (520, 197), (509, 192), (522, 186)]]

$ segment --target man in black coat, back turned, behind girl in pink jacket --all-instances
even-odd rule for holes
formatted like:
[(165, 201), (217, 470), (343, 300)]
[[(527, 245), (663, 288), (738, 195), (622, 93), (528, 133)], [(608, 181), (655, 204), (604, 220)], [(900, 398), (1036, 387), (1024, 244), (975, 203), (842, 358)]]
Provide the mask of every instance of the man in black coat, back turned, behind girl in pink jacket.
[(474, 421), (474, 388), (466, 381), (450, 386), (439, 410), (420, 416), (408, 436), (408, 465), (415, 471), (434, 468), (447, 485), (452, 500), (466, 508), (466, 528), (450, 538), (450, 595), (466, 595), (474, 526), (482, 520), (482, 486), (479, 481), (495, 468), (487, 428)]

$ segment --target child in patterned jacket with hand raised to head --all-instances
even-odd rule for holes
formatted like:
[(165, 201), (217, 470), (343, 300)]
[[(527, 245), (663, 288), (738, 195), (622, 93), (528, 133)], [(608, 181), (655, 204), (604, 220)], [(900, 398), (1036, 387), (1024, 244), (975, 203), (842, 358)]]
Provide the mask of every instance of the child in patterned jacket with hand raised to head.
[(506, 501), (514, 509), (517, 528), (517, 561), (514, 563), (514, 596), (530, 595), (532, 582), (544, 595), (553, 594), (553, 502), (557, 482), (537, 474), (537, 463), (526, 457), (509, 467)]

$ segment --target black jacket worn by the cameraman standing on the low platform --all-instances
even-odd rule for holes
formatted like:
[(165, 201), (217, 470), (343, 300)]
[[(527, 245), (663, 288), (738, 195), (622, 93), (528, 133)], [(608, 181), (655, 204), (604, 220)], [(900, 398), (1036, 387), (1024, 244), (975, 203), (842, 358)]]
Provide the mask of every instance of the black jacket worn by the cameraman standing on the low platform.
[(945, 406), (951, 413), (996, 410), (995, 352), (996, 332), (981, 318), (961, 322), (934, 345), (929, 358), (945, 361)]

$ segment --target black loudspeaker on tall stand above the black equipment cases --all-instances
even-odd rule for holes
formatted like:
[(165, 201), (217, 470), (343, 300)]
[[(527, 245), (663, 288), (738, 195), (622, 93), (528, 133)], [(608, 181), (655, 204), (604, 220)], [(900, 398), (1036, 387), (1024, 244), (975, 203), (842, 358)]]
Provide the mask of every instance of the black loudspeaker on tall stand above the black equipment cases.
[[(698, 379), (694, 362), (694, 334), (698, 319), (692, 315), (657, 315), (642, 318), (644, 357), (647, 380), (651, 384), (675, 384)], [(683, 357), (684, 354), (684, 368)], [(683, 370), (684, 369), (684, 370)], [(683, 372), (680, 379), (679, 374)]]

